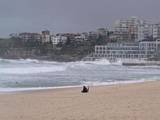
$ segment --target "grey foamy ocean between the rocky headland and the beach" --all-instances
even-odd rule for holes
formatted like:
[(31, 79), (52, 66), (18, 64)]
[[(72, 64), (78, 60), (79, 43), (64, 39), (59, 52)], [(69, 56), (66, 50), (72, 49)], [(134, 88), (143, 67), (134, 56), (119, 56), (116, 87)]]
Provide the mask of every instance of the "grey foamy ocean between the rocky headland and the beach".
[(107, 60), (52, 62), (0, 59), (0, 92), (126, 84), (160, 80), (160, 66), (123, 66)]

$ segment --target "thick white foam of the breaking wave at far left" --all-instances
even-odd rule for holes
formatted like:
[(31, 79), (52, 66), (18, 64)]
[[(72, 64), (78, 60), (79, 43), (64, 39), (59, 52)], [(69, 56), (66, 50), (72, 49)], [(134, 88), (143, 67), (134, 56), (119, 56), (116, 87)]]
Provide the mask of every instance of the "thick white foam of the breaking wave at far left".
[(57, 62), (35, 59), (0, 59), (0, 74), (36, 74), (65, 70), (66, 67), (58, 65)]

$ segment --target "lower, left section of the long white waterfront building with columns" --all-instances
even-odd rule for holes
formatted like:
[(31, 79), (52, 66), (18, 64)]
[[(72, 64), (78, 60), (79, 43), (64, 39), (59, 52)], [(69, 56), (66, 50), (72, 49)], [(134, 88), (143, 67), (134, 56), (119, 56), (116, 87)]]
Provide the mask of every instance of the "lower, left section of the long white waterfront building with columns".
[(136, 43), (109, 43), (95, 46), (95, 57), (111, 59), (135, 59), (139, 55), (139, 47)]

